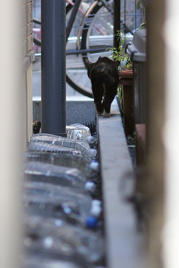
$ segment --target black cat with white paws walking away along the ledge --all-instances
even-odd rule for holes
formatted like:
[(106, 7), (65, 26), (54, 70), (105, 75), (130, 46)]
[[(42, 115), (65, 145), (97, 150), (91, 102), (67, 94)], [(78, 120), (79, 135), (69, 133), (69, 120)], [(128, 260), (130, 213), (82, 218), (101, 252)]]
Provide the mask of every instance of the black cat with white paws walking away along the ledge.
[(98, 115), (103, 114), (103, 117), (110, 117), (110, 106), (119, 84), (117, 67), (107, 57), (99, 57), (95, 63), (86, 60), (86, 64), (96, 112)]

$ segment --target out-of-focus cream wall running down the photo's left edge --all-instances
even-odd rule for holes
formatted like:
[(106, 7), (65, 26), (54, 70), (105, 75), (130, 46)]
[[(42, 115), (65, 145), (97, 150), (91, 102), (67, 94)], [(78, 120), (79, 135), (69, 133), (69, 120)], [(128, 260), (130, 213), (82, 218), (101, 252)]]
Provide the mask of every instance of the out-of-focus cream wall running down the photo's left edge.
[[(30, 19), (30, 9), (22, 8), (27, 7), (26, 2), (0, 3), (0, 268), (20, 268), (21, 162), (32, 130), (32, 100), (27, 105), (32, 75), (31, 56), (26, 56), (30, 41), (27, 36), (22, 38), (22, 26)], [(21, 45), (25, 40), (26, 50)]]

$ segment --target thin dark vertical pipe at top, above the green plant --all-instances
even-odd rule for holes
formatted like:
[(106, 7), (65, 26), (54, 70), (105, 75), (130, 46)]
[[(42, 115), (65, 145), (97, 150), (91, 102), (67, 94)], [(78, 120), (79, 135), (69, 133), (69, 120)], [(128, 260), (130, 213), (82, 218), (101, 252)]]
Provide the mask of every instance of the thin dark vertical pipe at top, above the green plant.
[(114, 28), (113, 28), (113, 35), (114, 35), (114, 39), (113, 39), (113, 44), (114, 47), (119, 47), (119, 41), (117, 41), (117, 36), (116, 36), (116, 32), (117, 30), (120, 31), (120, 0), (114, 0), (114, 4), (113, 4), (113, 24), (114, 24)]

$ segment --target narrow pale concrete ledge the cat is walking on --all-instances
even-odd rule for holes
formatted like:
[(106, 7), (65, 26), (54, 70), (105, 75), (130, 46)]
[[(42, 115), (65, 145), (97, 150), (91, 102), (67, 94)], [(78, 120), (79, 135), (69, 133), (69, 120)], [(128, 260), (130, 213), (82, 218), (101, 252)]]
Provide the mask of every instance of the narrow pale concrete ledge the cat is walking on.
[(98, 116), (97, 131), (107, 268), (147, 268), (145, 240), (136, 231), (132, 205), (124, 199), (125, 181), (130, 181), (133, 167), (116, 99), (111, 105), (110, 118)]

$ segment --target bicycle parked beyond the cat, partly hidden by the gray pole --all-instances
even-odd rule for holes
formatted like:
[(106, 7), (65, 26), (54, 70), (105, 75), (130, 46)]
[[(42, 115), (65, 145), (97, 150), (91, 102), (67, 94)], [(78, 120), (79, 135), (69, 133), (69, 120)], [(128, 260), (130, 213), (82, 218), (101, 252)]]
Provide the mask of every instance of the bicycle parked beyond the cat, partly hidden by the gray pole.
[[(91, 98), (85, 59), (95, 62), (99, 56), (110, 56), (106, 48), (113, 46), (112, 7), (113, 0), (67, 0), (66, 3), (67, 82)], [(40, 21), (34, 19), (34, 23), (40, 24)], [(40, 45), (40, 40), (34, 38), (34, 43)]]

